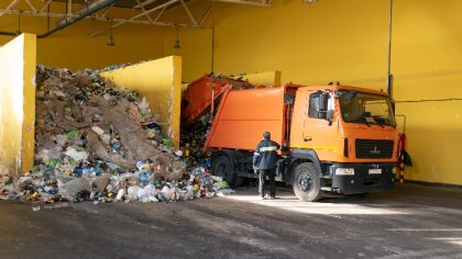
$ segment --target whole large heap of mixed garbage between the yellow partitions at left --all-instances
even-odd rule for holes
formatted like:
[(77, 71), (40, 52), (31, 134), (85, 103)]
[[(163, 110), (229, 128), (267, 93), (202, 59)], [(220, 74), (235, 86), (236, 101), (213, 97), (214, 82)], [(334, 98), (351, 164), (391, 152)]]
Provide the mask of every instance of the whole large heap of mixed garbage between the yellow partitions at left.
[(98, 75), (37, 66), (35, 166), (18, 181), (0, 174), (0, 199), (173, 202), (232, 192), (204, 168), (187, 169), (145, 98)]

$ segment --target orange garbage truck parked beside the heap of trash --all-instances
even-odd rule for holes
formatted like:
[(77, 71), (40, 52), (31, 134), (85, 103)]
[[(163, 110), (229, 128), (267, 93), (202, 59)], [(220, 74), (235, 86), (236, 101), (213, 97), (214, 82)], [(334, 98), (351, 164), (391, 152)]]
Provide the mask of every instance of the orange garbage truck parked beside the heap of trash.
[(232, 185), (256, 178), (253, 150), (266, 131), (283, 147), (276, 180), (302, 201), (394, 188), (399, 143), (385, 92), (293, 83), (226, 91), (204, 147), (211, 173)]

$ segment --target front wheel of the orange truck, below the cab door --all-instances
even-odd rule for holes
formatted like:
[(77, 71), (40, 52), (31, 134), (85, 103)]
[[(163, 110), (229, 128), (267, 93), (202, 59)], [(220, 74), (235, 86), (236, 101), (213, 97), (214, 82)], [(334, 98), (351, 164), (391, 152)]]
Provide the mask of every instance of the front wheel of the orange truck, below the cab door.
[(316, 202), (322, 196), (319, 172), (311, 162), (302, 162), (294, 170), (292, 187), (295, 195), (304, 202)]

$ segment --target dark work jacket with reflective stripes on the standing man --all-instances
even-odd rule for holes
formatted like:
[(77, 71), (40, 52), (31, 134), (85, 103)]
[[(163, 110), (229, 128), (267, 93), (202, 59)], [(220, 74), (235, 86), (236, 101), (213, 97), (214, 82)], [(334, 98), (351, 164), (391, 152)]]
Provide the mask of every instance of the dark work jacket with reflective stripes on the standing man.
[(264, 139), (258, 143), (253, 154), (253, 165), (258, 169), (274, 169), (276, 168), (277, 153), (279, 144)]

